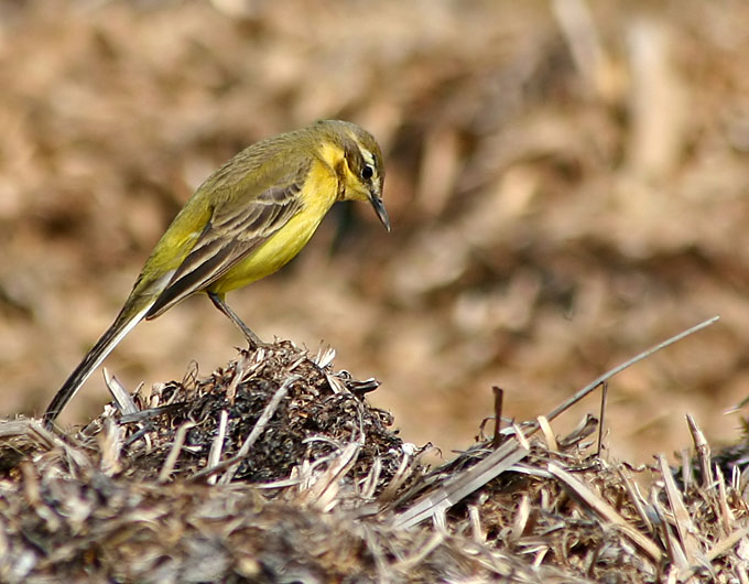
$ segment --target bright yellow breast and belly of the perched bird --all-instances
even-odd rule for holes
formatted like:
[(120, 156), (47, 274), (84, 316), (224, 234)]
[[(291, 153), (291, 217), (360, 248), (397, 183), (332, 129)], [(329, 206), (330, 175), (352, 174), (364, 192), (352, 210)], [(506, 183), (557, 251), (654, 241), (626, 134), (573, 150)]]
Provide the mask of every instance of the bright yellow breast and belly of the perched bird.
[(273, 237), (237, 263), (209, 290), (224, 294), (265, 278), (291, 261), (307, 245), (321, 221), (336, 202), (336, 176), (322, 164), (311, 171), (301, 196), (304, 207)]

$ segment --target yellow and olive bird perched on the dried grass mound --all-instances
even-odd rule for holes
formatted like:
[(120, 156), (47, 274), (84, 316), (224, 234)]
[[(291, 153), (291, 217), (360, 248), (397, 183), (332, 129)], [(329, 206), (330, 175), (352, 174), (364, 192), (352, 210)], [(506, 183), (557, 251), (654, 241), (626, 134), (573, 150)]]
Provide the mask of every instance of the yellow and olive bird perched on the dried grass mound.
[(382, 202), (384, 166), (376, 139), (359, 126), (319, 120), (236, 154), (198, 186), (153, 248), (115, 322), (54, 396), (47, 428), (111, 350), (143, 320), (195, 293), (243, 334), (265, 345), (226, 303), (226, 294), (281, 269), (310, 241), (337, 201), (368, 201), (390, 231)]

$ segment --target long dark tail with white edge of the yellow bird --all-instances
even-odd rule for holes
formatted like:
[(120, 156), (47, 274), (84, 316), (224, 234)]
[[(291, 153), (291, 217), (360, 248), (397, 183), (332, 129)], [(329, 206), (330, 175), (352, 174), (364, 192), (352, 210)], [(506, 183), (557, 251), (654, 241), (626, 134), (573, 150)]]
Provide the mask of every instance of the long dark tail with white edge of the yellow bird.
[[(84, 360), (80, 361), (78, 367), (70, 374), (63, 387), (59, 388), (55, 397), (47, 405), (44, 412), (44, 423), (47, 428), (52, 426), (53, 422), (63, 411), (68, 401), (73, 399), (73, 396), (80, 389), (86, 382), (86, 379), (94, 372), (94, 370), (101, 365), (101, 361), (111, 353), (111, 350), (119, 344), (124, 335), (127, 335), (132, 328), (145, 316), (153, 302), (149, 302), (145, 306), (135, 307), (132, 310), (131, 306), (127, 306), (118, 315), (117, 320), (112, 325), (107, 328), (107, 332), (101, 335), (96, 345), (88, 352)], [(131, 310), (128, 310), (131, 309)]]

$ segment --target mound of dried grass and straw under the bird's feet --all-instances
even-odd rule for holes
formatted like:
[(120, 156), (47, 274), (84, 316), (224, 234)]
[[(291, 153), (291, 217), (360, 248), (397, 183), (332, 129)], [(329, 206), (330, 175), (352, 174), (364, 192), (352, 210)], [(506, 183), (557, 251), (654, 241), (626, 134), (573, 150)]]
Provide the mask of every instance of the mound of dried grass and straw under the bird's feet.
[(680, 482), (604, 459), (590, 415), (428, 471), (332, 357), (276, 343), (134, 400), (110, 378), (79, 432), (0, 423), (0, 580), (748, 581), (746, 476), (693, 421)]

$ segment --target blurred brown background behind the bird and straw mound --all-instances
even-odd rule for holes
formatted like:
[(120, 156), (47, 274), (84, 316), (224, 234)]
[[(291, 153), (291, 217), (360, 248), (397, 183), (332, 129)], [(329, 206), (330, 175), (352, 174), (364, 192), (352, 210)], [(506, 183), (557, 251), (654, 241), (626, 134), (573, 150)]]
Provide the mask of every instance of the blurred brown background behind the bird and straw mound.
[[(383, 385), (410, 441), (469, 444), (617, 376), (608, 443), (649, 461), (692, 412), (734, 442), (749, 389), (749, 4), (0, 1), (0, 413), (40, 413), (209, 172), (317, 118), (387, 156), (387, 235), (339, 205), (281, 273), (235, 292), (262, 337)], [(323, 340), (324, 339), (324, 340)], [(106, 361), (129, 388), (235, 357), (204, 298)], [(107, 399), (101, 374), (63, 417)], [(589, 398), (565, 420), (584, 411)]]

